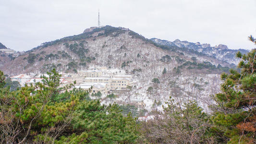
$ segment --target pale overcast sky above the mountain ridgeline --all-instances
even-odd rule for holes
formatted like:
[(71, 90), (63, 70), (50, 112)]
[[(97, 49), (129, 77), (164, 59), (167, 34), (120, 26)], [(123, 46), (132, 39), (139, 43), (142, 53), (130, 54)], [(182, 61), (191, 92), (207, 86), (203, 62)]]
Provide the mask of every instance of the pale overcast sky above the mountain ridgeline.
[(0, 42), (29, 50), (98, 25), (125, 27), (146, 38), (252, 49), (256, 0), (0, 0)]

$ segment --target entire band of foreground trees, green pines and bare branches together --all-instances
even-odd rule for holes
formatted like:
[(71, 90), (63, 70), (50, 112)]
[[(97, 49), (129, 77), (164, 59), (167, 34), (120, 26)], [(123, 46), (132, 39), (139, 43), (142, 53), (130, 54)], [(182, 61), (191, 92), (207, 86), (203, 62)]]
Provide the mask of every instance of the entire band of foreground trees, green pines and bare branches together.
[(222, 73), (221, 93), (213, 96), (211, 113), (173, 91), (167, 107), (147, 121), (138, 121), (123, 106), (101, 105), (88, 91), (67, 91), (73, 84), (59, 87), (61, 75), (55, 69), (42, 84), (17, 89), (0, 72), (0, 143), (256, 143), (256, 49), (237, 57), (239, 72)]

